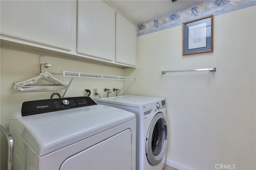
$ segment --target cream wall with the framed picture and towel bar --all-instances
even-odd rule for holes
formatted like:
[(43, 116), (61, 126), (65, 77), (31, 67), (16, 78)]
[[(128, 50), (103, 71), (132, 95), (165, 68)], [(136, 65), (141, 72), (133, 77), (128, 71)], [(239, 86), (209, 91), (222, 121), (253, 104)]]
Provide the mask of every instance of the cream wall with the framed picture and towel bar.
[[(136, 84), (124, 94), (167, 102), (167, 163), (193, 169), (256, 169), (256, 6), (214, 16), (214, 51), (182, 56), (182, 26), (138, 37)], [(173, 72), (216, 67), (217, 71)]]

